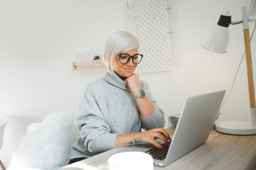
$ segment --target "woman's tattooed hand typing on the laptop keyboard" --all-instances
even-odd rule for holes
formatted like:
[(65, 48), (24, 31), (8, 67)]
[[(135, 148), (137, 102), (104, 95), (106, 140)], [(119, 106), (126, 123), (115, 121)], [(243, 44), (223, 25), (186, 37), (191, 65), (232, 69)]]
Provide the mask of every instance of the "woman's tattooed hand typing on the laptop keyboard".
[(146, 132), (138, 132), (134, 139), (128, 142), (129, 145), (137, 145), (137, 144), (153, 144), (159, 149), (164, 149), (155, 139), (161, 139), (166, 144), (169, 144), (171, 140), (169, 133), (164, 128), (156, 128), (152, 130), (148, 130)]

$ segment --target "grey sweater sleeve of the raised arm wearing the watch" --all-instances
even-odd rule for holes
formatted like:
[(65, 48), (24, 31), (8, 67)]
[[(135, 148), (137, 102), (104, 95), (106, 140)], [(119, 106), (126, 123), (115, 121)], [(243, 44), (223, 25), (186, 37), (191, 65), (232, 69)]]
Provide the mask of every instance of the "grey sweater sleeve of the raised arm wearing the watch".
[(142, 128), (144, 130), (151, 130), (154, 128), (164, 128), (165, 120), (164, 120), (164, 111), (159, 107), (159, 105), (154, 100), (151, 91), (149, 89), (149, 85), (146, 82), (143, 82), (142, 89), (146, 93), (146, 97), (149, 99), (151, 104), (154, 106), (154, 113), (152, 113), (149, 118), (142, 118)]

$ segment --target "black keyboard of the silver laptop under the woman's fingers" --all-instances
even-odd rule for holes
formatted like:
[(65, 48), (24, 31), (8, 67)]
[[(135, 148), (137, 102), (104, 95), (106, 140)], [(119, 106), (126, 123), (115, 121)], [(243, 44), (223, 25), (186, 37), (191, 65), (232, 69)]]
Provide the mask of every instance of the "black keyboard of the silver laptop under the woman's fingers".
[(146, 153), (150, 154), (153, 157), (153, 159), (163, 160), (166, 158), (166, 155), (168, 153), (170, 145), (163, 143), (162, 147), (164, 147), (164, 149), (159, 149), (158, 147), (153, 147), (153, 148), (147, 150)]

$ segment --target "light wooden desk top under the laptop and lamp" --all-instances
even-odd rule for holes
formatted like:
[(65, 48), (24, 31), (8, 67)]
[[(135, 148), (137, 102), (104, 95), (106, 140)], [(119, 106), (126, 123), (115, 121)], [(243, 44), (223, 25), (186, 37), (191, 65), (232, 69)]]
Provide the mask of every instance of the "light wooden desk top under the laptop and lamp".
[[(168, 128), (167, 130), (170, 135), (174, 134), (174, 129)], [(110, 155), (125, 151), (125, 149), (127, 147), (111, 149), (79, 163), (97, 167), (100, 164), (106, 164)], [(72, 166), (65, 166), (62, 170), (80, 169)], [(205, 144), (168, 166), (154, 166), (154, 170), (157, 169), (256, 169), (256, 135), (224, 135), (212, 130)]]

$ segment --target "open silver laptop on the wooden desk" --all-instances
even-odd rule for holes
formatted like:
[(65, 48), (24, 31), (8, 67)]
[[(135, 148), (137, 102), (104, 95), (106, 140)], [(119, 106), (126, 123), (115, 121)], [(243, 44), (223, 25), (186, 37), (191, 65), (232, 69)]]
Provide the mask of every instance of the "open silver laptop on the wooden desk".
[[(171, 143), (166, 145), (161, 142), (166, 147), (166, 157), (152, 156), (154, 165), (166, 166), (171, 164), (184, 154), (203, 145), (210, 135), (224, 95), (225, 90), (189, 97), (181, 111)], [(160, 140), (156, 141), (159, 142)], [(152, 154), (152, 149), (155, 149), (156, 152), (164, 152), (163, 149), (157, 147), (149, 149), (149, 147), (142, 145), (135, 145), (129, 150)]]

